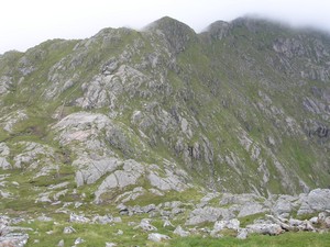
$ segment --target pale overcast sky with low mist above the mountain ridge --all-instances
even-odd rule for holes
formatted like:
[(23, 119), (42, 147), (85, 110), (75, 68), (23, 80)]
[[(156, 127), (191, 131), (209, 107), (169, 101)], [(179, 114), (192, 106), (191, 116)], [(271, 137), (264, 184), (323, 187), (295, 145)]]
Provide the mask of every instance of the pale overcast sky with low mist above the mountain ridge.
[(0, 54), (50, 38), (90, 37), (103, 27), (142, 29), (165, 15), (200, 32), (246, 14), (330, 32), (330, 0), (2, 0)]

